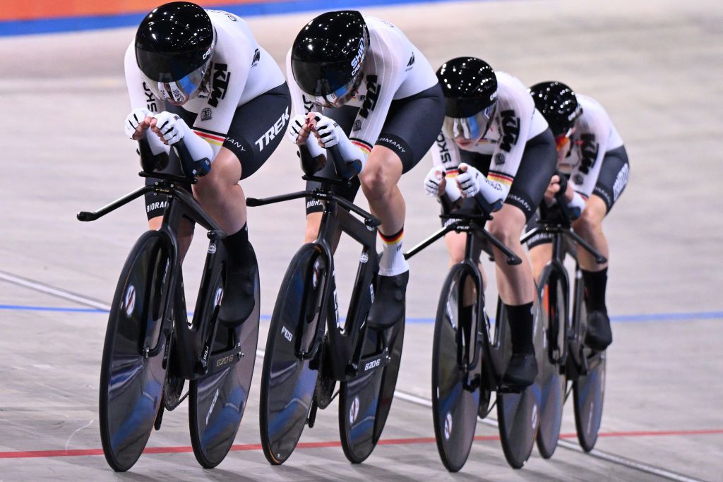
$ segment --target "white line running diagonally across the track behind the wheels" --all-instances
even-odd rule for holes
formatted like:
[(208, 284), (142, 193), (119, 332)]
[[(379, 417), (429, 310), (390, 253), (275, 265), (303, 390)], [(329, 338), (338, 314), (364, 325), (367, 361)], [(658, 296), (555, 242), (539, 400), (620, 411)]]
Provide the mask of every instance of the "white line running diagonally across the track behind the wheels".
[[(109, 304), (103, 303), (101, 301), (96, 301), (92, 298), (87, 298), (86, 296), (77, 295), (75, 293), (71, 293), (70, 291), (65, 291), (60, 288), (54, 288), (44, 283), (28, 280), (24, 277), (11, 275), (7, 272), (0, 271), (0, 280), (5, 280), (9, 283), (14, 283), (15, 285), (24, 286), (25, 288), (30, 288), (31, 290), (40, 291), (41, 293), (48, 293), (49, 295), (57, 296), (58, 298), (64, 298), (69, 301), (74, 301), (78, 304), (82, 304), (85, 306), (92, 306), (93, 308), (105, 310), (111, 309), (111, 306)], [(256, 356), (259, 358), (263, 358), (264, 350), (257, 348)], [(408, 403), (414, 403), (415, 405), (421, 405), (422, 407), (432, 408), (432, 400), (424, 397), (419, 397), (418, 395), (395, 390), (394, 397), (398, 398), (399, 400), (404, 400)], [(497, 427), (497, 421), (491, 418), (477, 418), (477, 421), (479, 423), (484, 423), (485, 425)], [(576, 452), (583, 452), (583, 450), (578, 447), (577, 444), (573, 444), (572, 442), (568, 442), (567, 440), (560, 440), (559, 442), (557, 442), (557, 444), (564, 449), (574, 450)], [(654, 465), (638, 462), (636, 460), (630, 460), (628, 458), (620, 457), (618, 455), (610, 454), (608, 452), (593, 450), (592, 452), (589, 452), (588, 455), (598, 458), (600, 460), (615, 463), (617, 465), (623, 465), (628, 468), (640, 470), (641, 472), (649, 473), (651, 475), (658, 475), (659, 477), (664, 477), (672, 481), (702, 482), (700, 479), (697, 478), (688, 477), (687, 475), (675, 473), (671, 470), (655, 467)]]

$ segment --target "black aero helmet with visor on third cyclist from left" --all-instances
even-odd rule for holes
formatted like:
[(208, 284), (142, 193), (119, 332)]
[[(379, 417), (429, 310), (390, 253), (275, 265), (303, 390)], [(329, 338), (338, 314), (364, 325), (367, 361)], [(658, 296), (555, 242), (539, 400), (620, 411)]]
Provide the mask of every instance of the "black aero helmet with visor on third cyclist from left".
[(497, 100), (497, 76), (492, 67), (475, 57), (457, 57), (442, 64), (437, 79), (445, 96), (445, 135), (484, 136)]

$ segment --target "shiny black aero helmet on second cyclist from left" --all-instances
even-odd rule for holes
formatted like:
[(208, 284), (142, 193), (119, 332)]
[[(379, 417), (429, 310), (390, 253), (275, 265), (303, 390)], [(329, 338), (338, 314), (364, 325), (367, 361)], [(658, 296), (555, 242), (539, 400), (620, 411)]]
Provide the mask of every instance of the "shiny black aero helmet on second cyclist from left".
[(368, 51), (369, 30), (359, 12), (327, 12), (296, 35), (291, 72), (301, 91), (315, 103), (338, 107), (359, 86)]

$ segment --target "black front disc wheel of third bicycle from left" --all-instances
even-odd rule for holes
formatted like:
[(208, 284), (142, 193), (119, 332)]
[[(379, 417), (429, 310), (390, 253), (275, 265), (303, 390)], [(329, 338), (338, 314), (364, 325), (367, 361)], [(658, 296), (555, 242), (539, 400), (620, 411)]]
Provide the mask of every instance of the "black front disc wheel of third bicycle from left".
[(482, 380), (476, 319), (481, 280), (464, 264), (450, 270), (437, 305), (432, 344), (432, 418), (437, 451), (447, 470), (460, 470), (474, 442)]

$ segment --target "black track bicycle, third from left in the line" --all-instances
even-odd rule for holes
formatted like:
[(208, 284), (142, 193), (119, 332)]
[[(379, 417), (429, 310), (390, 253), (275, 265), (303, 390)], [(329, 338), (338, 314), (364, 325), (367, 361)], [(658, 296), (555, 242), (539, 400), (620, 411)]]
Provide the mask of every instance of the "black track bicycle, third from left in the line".
[[(482, 250), (491, 256), (489, 244), (505, 254), (508, 264), (520, 264), (497, 238), (484, 229), (492, 219), (491, 209), (479, 194), (475, 213), (450, 212), (440, 217), (445, 227), (429, 236), (405, 256), (422, 249), (455, 231), (466, 233), (465, 256), (455, 264), (442, 285), (437, 305), (432, 348), (432, 418), (437, 450), (450, 472), (457, 472), (469, 457), (477, 417), (492, 410), (492, 392), (497, 392), (497, 422), (505, 459), (513, 468), (521, 468), (529, 458), (539, 423), (538, 379), (530, 387), (502, 384), (510, 356), (512, 340), (507, 313), (497, 299), (495, 329), (484, 309), (484, 284), (479, 271)], [(542, 327), (539, 301), (534, 301), (534, 345), (538, 371), (542, 371)]]

